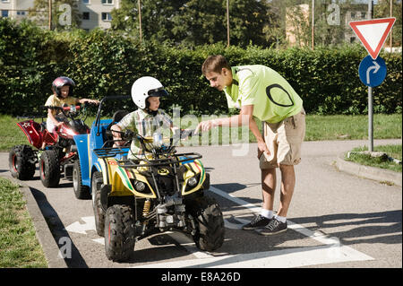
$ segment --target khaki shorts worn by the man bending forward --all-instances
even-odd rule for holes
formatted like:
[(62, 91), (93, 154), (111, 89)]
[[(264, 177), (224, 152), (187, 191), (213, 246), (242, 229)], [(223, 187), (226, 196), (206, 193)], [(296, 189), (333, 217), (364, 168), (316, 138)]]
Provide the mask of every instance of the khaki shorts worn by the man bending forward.
[(287, 117), (279, 123), (263, 122), (264, 141), (270, 155), (263, 153), (259, 167), (272, 169), (283, 165), (296, 165), (301, 161), (301, 145), (305, 136), (305, 111)]

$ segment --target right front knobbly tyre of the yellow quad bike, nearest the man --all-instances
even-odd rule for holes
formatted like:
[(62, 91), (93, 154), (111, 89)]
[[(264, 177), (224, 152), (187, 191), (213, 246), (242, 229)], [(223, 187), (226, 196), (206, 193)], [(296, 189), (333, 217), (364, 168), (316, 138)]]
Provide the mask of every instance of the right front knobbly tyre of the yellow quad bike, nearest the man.
[(208, 195), (196, 197), (186, 205), (186, 209), (196, 221), (196, 233), (193, 240), (196, 247), (204, 251), (214, 251), (224, 242), (224, 220), (219, 204)]

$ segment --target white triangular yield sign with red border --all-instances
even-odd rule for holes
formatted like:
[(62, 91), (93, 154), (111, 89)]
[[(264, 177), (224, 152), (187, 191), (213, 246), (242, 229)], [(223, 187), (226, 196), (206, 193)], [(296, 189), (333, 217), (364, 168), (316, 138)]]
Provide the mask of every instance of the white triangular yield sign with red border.
[(382, 18), (349, 22), (348, 24), (370, 56), (376, 59), (395, 21), (396, 18)]

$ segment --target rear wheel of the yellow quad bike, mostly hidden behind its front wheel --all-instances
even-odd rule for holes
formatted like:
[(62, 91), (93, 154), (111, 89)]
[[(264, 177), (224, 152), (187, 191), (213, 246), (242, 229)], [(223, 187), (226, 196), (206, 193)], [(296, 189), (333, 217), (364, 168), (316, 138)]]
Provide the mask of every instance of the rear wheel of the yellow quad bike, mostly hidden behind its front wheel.
[(100, 201), (100, 187), (102, 185), (102, 173), (95, 171), (92, 175), (91, 182), (91, 195), (92, 195), (92, 208), (95, 216), (95, 229), (100, 237), (104, 236), (105, 227), (105, 211), (102, 208)]

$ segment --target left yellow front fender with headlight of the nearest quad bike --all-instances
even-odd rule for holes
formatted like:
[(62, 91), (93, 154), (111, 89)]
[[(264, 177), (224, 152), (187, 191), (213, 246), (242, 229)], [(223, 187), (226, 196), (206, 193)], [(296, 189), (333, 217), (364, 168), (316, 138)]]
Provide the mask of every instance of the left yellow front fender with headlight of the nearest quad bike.
[[(119, 166), (115, 158), (99, 158), (99, 166), (102, 169), (102, 176), (104, 184), (111, 185), (111, 191), (109, 195), (114, 196), (126, 196), (136, 195), (139, 197), (156, 198), (157, 195), (152, 192), (152, 188), (144, 178), (139, 175), (135, 175), (135, 171), (126, 170)], [(136, 191), (133, 187), (133, 179), (141, 180), (151, 190), (150, 194), (142, 194)]]

